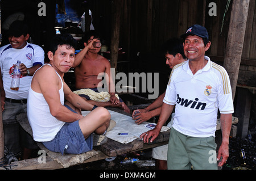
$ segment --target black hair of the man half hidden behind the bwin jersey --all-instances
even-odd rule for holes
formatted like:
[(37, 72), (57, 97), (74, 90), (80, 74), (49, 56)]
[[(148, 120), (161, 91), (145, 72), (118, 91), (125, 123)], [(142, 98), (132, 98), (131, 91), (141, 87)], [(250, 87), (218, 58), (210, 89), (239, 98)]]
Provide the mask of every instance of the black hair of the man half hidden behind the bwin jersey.
[(162, 53), (163, 54), (172, 54), (172, 56), (176, 56), (177, 53), (180, 53), (183, 58), (185, 57), (184, 49), (183, 49), (183, 40), (173, 37), (162, 45)]

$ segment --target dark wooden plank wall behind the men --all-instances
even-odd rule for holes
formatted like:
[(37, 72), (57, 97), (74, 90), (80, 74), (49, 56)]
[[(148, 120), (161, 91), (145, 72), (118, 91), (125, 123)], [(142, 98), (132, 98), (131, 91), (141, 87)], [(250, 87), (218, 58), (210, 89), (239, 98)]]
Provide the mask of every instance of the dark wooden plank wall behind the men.
[[(111, 37), (111, 0), (92, 1), (93, 24), (100, 30), (106, 42)], [(158, 50), (171, 37), (179, 37), (192, 24), (205, 24), (212, 42), (207, 54), (222, 64), (228, 36), (232, 1), (225, 14), (227, 1), (223, 0), (122, 0), (122, 16), (119, 47), (126, 52), (125, 60), (130, 68), (142, 71), (166, 71), (165, 61), (160, 60)], [(205, 2), (205, 7), (204, 7)], [(217, 16), (209, 16), (210, 2), (217, 5)], [(242, 70), (255, 71), (256, 66), (256, 9), (250, 1), (247, 30), (241, 61)], [(205, 11), (204, 11), (205, 9)], [(205, 13), (204, 13), (205, 12)], [(222, 27), (222, 20), (224, 20)], [(222, 31), (221, 31), (222, 28)], [(239, 27), (238, 27), (239, 28)], [(141, 56), (137, 56), (140, 52)], [(119, 64), (121, 66), (121, 64)], [(152, 66), (154, 65), (154, 66)], [(144, 66), (142, 68), (142, 66)]]

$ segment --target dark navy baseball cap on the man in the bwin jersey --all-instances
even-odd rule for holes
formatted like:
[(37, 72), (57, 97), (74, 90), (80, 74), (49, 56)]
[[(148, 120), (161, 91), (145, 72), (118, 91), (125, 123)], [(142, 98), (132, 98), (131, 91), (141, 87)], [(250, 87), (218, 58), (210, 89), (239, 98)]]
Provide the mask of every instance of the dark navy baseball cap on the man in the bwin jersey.
[(207, 40), (209, 40), (209, 35), (206, 28), (199, 24), (194, 24), (193, 26), (189, 27), (185, 34), (181, 35), (180, 37), (184, 39), (188, 35), (197, 35), (199, 37), (207, 38)]

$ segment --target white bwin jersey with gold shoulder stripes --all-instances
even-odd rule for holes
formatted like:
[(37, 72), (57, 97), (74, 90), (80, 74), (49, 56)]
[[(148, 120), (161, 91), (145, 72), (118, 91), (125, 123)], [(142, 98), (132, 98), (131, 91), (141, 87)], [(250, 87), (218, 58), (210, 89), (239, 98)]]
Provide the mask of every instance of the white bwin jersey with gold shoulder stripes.
[(173, 127), (187, 136), (215, 136), (217, 111), (233, 113), (232, 90), (226, 70), (208, 60), (193, 75), (189, 60), (172, 69), (163, 102), (175, 106)]

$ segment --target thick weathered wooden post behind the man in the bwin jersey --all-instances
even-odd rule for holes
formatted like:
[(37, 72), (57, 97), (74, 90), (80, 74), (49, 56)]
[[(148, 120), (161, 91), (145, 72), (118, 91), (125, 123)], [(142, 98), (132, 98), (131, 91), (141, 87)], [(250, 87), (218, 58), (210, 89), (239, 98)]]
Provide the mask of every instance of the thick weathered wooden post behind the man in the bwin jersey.
[(228, 71), (232, 87), (233, 100), (236, 94), (237, 79), (240, 69), (243, 41), (250, 0), (234, 0), (229, 23), (224, 68)]

